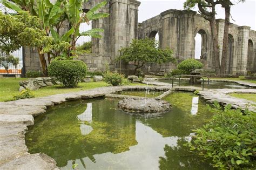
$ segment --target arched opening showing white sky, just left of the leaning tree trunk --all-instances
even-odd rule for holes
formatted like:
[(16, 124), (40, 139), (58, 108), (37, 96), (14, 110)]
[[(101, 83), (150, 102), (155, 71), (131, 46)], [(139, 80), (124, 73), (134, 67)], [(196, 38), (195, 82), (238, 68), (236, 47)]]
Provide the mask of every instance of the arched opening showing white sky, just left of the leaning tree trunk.
[(207, 33), (203, 29), (194, 32), (194, 57), (196, 59), (207, 59)]

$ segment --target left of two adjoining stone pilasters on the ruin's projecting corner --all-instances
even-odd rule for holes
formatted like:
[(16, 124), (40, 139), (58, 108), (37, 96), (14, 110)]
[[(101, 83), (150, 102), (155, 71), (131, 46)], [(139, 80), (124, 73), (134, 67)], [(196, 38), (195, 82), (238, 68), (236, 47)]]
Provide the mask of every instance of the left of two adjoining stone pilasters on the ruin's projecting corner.
[(173, 50), (173, 57), (178, 57), (178, 10), (168, 10), (161, 13), (162, 33), (161, 48), (169, 47)]

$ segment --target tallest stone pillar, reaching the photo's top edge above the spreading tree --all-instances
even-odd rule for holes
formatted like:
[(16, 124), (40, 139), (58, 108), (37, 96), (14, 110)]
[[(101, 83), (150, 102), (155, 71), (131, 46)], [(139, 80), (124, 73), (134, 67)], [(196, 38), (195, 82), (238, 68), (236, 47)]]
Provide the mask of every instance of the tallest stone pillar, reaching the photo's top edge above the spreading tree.
[(133, 0), (111, 0), (110, 3), (110, 55), (114, 61), (118, 50), (126, 47), (138, 36), (138, 7)]

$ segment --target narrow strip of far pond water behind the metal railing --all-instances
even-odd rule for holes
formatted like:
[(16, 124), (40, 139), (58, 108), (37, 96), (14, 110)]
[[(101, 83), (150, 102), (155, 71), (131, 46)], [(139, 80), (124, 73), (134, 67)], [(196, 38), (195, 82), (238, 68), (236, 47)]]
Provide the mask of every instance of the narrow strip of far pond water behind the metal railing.
[[(170, 83), (172, 84), (172, 79), (159, 79), (160, 82), (163, 83)], [(179, 86), (179, 80), (173, 80), (173, 86)], [(191, 86), (188, 80), (180, 80), (180, 86)], [(203, 83), (201, 84), (193, 84), (192, 86), (202, 87)], [(208, 80), (204, 81), (204, 87), (207, 89)], [(242, 86), (238, 83), (231, 83), (231, 82), (217, 82), (217, 81), (210, 81), (209, 84), (210, 89), (253, 89), (252, 87)]]

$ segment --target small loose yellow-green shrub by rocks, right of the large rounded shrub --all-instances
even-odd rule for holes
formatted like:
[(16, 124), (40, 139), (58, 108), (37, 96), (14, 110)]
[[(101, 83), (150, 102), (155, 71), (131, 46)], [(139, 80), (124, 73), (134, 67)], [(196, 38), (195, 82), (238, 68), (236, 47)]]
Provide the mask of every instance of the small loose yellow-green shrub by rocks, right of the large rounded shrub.
[(112, 72), (108, 71), (104, 74), (103, 81), (105, 81), (106, 83), (111, 84), (113, 86), (120, 86), (124, 82), (124, 76), (123, 76), (123, 74), (112, 73)]

